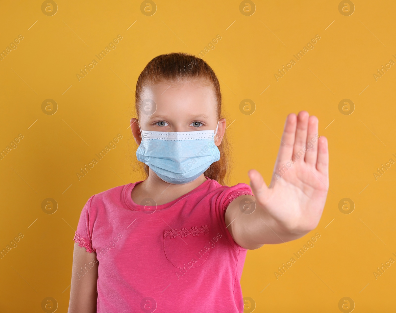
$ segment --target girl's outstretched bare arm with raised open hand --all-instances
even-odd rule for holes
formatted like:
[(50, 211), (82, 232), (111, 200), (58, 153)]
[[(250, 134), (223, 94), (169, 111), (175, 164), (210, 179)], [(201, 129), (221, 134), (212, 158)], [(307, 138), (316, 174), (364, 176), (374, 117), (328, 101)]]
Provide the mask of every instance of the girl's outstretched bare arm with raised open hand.
[(300, 238), (316, 228), (329, 186), (327, 139), (318, 139), (318, 119), (301, 111), (287, 116), (270, 185), (249, 171), (255, 196), (230, 203), (225, 223), (246, 249)]

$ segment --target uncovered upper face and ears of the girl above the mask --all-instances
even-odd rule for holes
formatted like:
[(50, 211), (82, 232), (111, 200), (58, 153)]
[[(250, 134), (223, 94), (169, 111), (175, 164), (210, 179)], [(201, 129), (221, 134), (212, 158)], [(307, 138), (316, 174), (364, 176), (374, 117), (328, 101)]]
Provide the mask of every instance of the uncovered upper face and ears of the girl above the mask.
[[(141, 130), (157, 132), (190, 132), (215, 130), (217, 126), (217, 101), (213, 87), (196, 81), (177, 84), (161, 82), (147, 86), (139, 115)], [(135, 118), (131, 120), (133, 137), (140, 144), (140, 131)], [(220, 145), (225, 132), (225, 119), (219, 121), (216, 145)]]

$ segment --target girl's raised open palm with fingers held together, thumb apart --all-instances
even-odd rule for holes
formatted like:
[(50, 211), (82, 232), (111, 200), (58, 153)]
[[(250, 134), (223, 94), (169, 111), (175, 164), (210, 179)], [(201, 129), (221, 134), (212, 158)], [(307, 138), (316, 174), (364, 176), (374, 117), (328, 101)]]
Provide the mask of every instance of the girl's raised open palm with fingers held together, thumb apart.
[[(319, 139), (318, 139), (319, 138)], [(314, 229), (322, 216), (329, 189), (326, 137), (318, 136), (318, 118), (301, 111), (286, 118), (270, 185), (249, 171), (260, 206), (282, 227), (295, 233)]]

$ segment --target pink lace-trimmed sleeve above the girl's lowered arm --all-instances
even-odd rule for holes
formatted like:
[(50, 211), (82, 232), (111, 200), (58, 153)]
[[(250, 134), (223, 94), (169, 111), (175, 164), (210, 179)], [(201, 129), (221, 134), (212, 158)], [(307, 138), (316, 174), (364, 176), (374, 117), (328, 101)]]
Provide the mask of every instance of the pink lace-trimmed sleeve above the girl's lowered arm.
[(84, 208), (82, 208), (80, 219), (77, 225), (77, 231), (74, 235), (74, 242), (78, 243), (78, 246), (86, 248), (86, 251), (91, 253), (95, 251), (92, 248), (92, 222), (89, 220), (90, 210), (91, 210), (91, 202), (93, 196), (91, 196)]

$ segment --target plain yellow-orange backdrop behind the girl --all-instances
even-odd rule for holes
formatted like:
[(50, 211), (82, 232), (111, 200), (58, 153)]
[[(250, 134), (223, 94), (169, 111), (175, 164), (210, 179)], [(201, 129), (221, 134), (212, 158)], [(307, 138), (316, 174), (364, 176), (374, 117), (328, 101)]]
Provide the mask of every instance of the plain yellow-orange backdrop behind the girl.
[[(396, 164), (377, 180), (373, 175), (396, 160), (396, 65), (373, 77), (396, 61), (393, 1), (356, 0), (349, 16), (338, 1), (255, 1), (250, 16), (238, 1), (158, 0), (152, 16), (135, 1), (56, 3), (52, 16), (40, 1), (1, 4), (0, 51), (19, 34), (23, 40), (0, 61), (0, 150), (18, 134), (23, 139), (0, 160), (0, 249), (19, 233), (23, 238), (0, 259), (0, 311), (42, 312), (46, 297), (67, 311), (82, 207), (93, 194), (141, 179), (129, 129), (139, 73), (163, 53), (198, 55), (217, 34), (221, 40), (203, 58), (219, 77), (232, 122), (230, 185), (249, 183), (250, 168), (270, 182), (288, 113), (318, 116), (329, 141), (330, 190), (317, 229), (249, 251), (244, 297), (255, 301), (255, 312), (340, 312), (343, 297), (352, 298), (355, 312), (394, 311), (396, 263), (373, 275), (396, 254)], [(80, 69), (118, 34), (117, 48), (78, 81)], [(277, 81), (274, 73), (316, 34), (315, 48)], [(44, 99), (56, 101), (55, 114), (43, 113)], [(254, 101), (253, 114), (242, 114), (242, 99)], [(353, 101), (352, 114), (341, 114), (341, 99)], [(117, 147), (78, 180), (80, 168), (117, 134)], [(350, 214), (338, 208), (346, 197), (355, 204)], [(55, 213), (43, 212), (45, 198), (57, 201)], [(315, 246), (276, 279), (278, 267), (316, 232)]]

